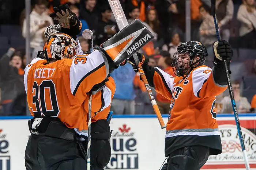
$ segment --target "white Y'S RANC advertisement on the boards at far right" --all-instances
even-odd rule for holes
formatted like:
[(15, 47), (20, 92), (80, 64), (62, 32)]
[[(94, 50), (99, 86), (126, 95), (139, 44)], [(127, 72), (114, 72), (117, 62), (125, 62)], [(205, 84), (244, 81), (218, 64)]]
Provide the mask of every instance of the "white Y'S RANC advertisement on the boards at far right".
[[(256, 163), (256, 135), (241, 127), (245, 149), (250, 163)], [(237, 127), (233, 124), (219, 125), (222, 154), (212, 155), (207, 163), (244, 163)]]

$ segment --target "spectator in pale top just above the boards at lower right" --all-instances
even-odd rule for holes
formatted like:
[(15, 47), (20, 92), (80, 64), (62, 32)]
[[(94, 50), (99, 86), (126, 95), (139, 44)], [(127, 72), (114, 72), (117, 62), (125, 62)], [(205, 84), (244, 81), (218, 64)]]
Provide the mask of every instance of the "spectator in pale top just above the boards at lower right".
[[(246, 97), (242, 97), (240, 94), (240, 82), (234, 81), (232, 83), (233, 93), (234, 93), (234, 99), (236, 101), (237, 106), (237, 112), (238, 113), (248, 113), (251, 109), (251, 104), (248, 102)], [(233, 113), (233, 108), (231, 105), (230, 96), (225, 96), (222, 99), (223, 109), (222, 113)]]

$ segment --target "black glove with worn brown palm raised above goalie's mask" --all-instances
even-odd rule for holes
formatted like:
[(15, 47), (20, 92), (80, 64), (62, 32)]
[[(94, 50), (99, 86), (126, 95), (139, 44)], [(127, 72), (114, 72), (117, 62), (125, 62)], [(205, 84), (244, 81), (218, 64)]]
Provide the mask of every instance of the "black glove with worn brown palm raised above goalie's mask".
[(60, 5), (59, 8), (54, 7), (53, 11), (54, 12), (50, 13), (50, 17), (59, 22), (61, 31), (71, 36), (73, 39), (76, 39), (76, 35), (82, 30), (82, 23), (75, 13), (70, 11), (68, 5)]

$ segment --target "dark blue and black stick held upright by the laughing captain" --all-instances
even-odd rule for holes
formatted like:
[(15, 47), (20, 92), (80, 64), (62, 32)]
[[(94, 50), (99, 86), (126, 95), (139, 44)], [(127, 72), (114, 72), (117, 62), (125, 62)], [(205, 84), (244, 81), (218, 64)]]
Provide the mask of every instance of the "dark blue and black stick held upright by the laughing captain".
[[(211, 8), (212, 8), (212, 12), (213, 12), (212, 15), (213, 15), (214, 25), (215, 25), (215, 29), (216, 29), (216, 35), (217, 35), (218, 41), (220, 41), (221, 36), (219, 35), (219, 26), (218, 26), (217, 16), (216, 16), (216, 12), (215, 12), (215, 0), (212, 0), (211, 3), (212, 3)], [(233, 112), (234, 112), (234, 116), (235, 116), (235, 120), (236, 120), (237, 132), (238, 132), (238, 136), (239, 136), (241, 147), (242, 147), (242, 153), (243, 153), (243, 157), (244, 157), (245, 168), (246, 168), (246, 170), (249, 170), (250, 165), (249, 165), (249, 161), (248, 161), (248, 158), (247, 158), (247, 153), (246, 153), (245, 146), (244, 146), (244, 137), (242, 136), (242, 130), (241, 130), (240, 121), (239, 121), (239, 118), (238, 118), (236, 102), (235, 102), (235, 99), (234, 99), (234, 94), (233, 94), (231, 81), (230, 81), (229, 68), (227, 67), (226, 60), (224, 60), (224, 65), (225, 65), (225, 70), (226, 70), (226, 74), (227, 74), (227, 86), (229, 88), (229, 95), (230, 95), (231, 104), (232, 104), (232, 107), (233, 107)]]

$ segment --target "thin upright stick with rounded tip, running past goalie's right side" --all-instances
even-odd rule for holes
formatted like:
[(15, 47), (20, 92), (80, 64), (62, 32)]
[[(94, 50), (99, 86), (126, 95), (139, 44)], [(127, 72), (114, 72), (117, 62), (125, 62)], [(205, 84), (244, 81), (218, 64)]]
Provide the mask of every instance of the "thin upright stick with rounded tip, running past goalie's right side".
[[(91, 49), (90, 53), (93, 52), (93, 32), (90, 29), (84, 29), (82, 33), (83, 37), (85, 39), (91, 40)], [(92, 99), (92, 93), (89, 93), (89, 108), (88, 108), (88, 144), (87, 144), (87, 170), (90, 170), (91, 168), (91, 99)]]

